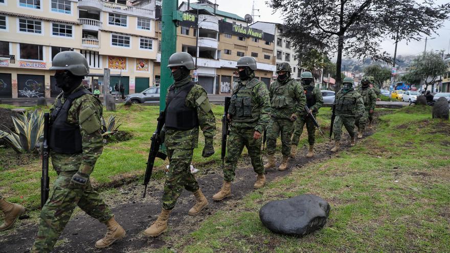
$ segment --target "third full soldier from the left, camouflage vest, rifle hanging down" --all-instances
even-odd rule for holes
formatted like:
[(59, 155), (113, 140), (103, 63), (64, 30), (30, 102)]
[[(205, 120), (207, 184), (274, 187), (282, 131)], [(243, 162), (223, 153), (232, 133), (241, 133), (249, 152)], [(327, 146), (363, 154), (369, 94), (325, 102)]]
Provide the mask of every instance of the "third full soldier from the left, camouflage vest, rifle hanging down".
[(264, 186), (264, 166), (261, 158), (261, 133), (269, 121), (271, 105), (269, 91), (265, 83), (255, 78), (256, 60), (244, 56), (237, 61), (239, 79), (236, 81), (228, 119), (231, 121), (230, 137), (227, 144), (227, 157), (223, 168), (223, 185), (213, 199), (218, 201), (231, 196), (231, 181), (235, 177), (237, 160), (244, 146), (249, 151), (253, 170), (258, 174), (253, 187)]

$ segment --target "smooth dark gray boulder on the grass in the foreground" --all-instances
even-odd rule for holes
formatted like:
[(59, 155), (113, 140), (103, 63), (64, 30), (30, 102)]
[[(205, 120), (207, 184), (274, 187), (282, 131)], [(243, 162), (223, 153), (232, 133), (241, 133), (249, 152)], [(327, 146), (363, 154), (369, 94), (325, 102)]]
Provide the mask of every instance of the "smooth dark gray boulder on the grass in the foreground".
[(302, 236), (322, 228), (329, 213), (327, 201), (307, 194), (268, 202), (259, 210), (259, 218), (274, 233)]

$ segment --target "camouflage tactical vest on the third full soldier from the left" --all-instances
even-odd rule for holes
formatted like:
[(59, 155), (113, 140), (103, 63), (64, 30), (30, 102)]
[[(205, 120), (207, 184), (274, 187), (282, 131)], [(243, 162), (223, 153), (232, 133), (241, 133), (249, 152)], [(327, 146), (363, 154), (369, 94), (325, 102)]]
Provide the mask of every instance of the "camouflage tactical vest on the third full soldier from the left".
[(239, 83), (238, 87), (231, 96), (230, 108), (228, 113), (232, 114), (233, 121), (250, 123), (259, 119), (261, 109), (253, 110), (252, 90), (259, 83), (259, 80), (253, 78), (245, 85)]

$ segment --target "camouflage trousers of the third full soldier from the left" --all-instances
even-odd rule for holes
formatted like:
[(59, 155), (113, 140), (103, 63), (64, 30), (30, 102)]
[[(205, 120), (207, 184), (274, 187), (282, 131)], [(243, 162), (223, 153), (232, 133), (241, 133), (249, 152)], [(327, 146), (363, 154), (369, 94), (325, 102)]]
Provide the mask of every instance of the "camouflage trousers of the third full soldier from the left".
[(244, 147), (249, 151), (253, 170), (257, 174), (264, 174), (264, 165), (261, 157), (262, 137), (258, 140), (253, 139), (255, 129), (230, 127), (230, 136), (227, 143), (227, 157), (225, 158), (225, 167), (223, 168), (223, 179), (233, 181), (236, 175), (237, 160)]

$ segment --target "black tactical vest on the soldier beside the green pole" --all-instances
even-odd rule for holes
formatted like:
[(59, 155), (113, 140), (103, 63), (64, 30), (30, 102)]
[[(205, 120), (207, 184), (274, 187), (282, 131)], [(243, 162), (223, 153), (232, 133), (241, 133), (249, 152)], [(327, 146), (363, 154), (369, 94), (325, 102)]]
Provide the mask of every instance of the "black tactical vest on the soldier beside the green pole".
[(186, 97), (195, 83), (190, 82), (175, 91), (175, 86), (169, 88), (166, 108), (166, 128), (189, 130), (198, 127), (197, 108), (186, 106)]

